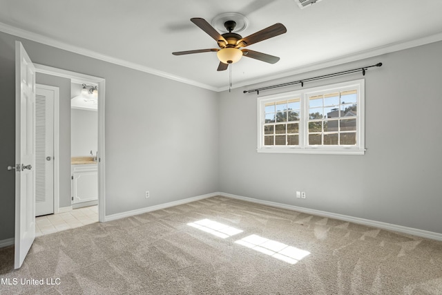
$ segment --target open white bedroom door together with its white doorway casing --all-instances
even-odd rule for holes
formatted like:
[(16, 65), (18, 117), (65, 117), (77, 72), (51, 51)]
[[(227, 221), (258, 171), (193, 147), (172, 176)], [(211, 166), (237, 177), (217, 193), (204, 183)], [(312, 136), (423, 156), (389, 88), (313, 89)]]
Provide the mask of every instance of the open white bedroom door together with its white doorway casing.
[[(104, 89), (103, 78), (42, 66), (32, 63), (23, 44), (15, 41), (15, 258), (14, 267), (23, 264), (35, 240), (35, 79), (37, 73), (73, 79), (93, 80), (101, 89), (98, 95), (99, 140), (98, 186), (99, 221), (105, 214), (105, 149), (104, 149)], [(70, 162), (66, 161), (66, 165)], [(70, 164), (68, 165), (70, 167)], [(33, 169), (34, 168), (34, 169)], [(69, 193), (68, 193), (69, 194)]]

